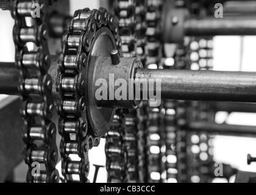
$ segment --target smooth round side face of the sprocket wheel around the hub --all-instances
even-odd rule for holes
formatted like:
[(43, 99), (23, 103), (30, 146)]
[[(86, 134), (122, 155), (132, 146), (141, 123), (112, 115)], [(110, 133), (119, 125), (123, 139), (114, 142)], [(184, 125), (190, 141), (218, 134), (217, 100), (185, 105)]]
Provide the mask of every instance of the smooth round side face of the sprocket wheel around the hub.
[(113, 37), (110, 29), (107, 27), (99, 29), (91, 43), (91, 51), (88, 57), (86, 87), (88, 120), (93, 128), (93, 134), (96, 137), (105, 135), (106, 129), (110, 127), (110, 121), (114, 113), (113, 108), (98, 107), (96, 105), (94, 91), (96, 88), (95, 82), (97, 79), (104, 78), (99, 77), (99, 73), (101, 70), (104, 71), (104, 69), (108, 67), (105, 63), (101, 64), (102, 66), (99, 65), (99, 63), (96, 63), (96, 59), (100, 56), (110, 57), (110, 51), (116, 48), (115, 37)]

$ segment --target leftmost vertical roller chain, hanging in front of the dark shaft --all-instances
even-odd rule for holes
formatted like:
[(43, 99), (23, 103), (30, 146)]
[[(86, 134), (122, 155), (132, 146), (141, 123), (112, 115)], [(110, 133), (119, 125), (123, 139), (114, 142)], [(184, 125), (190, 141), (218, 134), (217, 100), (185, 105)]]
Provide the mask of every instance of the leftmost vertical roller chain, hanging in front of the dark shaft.
[[(32, 5), (40, 5), (40, 18), (32, 15)], [(48, 29), (44, 16), (49, 1), (12, 1), (11, 14), (15, 19), (15, 65), (20, 70), (19, 90), (22, 95), (21, 116), (24, 119), (23, 140), (26, 144), (25, 163), (29, 166), (27, 182), (59, 182), (55, 169), (58, 151), (56, 128), (51, 121), (54, 112), (52, 79), (48, 74), (50, 57)], [(32, 48), (29, 48), (32, 43)], [(39, 172), (32, 172), (35, 163)]]

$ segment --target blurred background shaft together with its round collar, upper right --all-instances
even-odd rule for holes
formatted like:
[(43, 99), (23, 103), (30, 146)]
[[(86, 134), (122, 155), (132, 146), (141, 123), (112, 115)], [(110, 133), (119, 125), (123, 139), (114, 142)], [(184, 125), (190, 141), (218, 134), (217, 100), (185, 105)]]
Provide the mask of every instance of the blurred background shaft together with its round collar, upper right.
[(189, 17), (185, 9), (174, 9), (170, 10), (164, 19), (165, 43), (182, 43), (185, 36), (256, 35), (256, 15), (198, 18)]

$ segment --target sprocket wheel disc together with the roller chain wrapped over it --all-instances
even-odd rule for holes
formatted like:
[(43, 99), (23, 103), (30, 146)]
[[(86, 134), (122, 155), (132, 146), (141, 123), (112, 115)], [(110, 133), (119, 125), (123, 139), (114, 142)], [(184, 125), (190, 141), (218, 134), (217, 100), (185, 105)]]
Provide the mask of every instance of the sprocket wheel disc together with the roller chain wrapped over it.
[[(77, 10), (63, 35), (57, 91), (66, 182), (88, 182), (88, 149), (98, 146), (98, 137), (105, 135), (115, 111), (98, 107), (90, 96), (94, 94), (94, 65), (99, 56), (108, 56), (120, 46), (116, 18), (103, 8)], [(69, 158), (70, 154), (80, 160)]]

